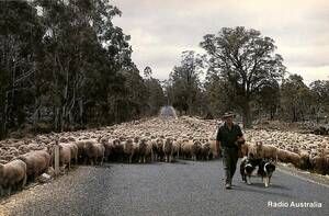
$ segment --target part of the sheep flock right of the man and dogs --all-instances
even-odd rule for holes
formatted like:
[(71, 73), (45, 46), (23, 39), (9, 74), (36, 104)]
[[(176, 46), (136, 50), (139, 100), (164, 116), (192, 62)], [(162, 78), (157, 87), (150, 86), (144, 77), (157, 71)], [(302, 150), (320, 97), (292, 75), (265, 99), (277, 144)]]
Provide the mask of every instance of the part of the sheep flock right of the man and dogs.
[(247, 143), (261, 157), (329, 174), (329, 137), (280, 130), (248, 130)]

